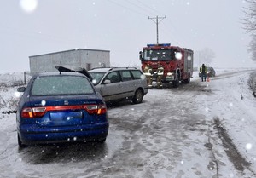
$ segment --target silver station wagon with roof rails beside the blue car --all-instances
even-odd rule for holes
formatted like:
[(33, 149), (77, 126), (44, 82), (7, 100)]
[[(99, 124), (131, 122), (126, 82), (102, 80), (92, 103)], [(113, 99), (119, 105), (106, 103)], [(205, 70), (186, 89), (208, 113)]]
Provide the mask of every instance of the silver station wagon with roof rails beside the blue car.
[(95, 68), (90, 71), (92, 83), (106, 102), (132, 100), (141, 103), (148, 93), (148, 84), (143, 72), (133, 67)]

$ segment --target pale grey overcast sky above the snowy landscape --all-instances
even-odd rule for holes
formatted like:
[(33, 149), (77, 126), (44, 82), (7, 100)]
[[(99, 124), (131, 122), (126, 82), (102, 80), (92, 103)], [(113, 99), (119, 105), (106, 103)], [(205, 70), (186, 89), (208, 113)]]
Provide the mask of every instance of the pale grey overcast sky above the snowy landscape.
[[(112, 66), (140, 65), (139, 51), (172, 43), (209, 48), (215, 67), (256, 66), (242, 29), (244, 0), (8, 0), (0, 7), (0, 72), (29, 71), (30, 55), (69, 49), (110, 50)], [(195, 56), (195, 66), (198, 59)]]

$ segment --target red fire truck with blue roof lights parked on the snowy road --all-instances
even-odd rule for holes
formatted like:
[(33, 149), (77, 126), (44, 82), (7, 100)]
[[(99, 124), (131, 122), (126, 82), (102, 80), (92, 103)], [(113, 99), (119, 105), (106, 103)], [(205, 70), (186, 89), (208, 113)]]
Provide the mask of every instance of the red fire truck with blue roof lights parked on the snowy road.
[(171, 46), (170, 43), (148, 44), (140, 52), (142, 70), (145, 66), (152, 69), (153, 80), (157, 78), (157, 69), (162, 66), (162, 82), (172, 82), (178, 87), (179, 82), (189, 83), (193, 75), (193, 50)]

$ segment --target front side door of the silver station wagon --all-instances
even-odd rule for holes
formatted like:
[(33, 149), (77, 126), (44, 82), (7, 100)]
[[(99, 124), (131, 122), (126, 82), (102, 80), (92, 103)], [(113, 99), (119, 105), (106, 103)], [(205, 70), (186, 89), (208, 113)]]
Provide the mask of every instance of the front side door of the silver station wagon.
[(105, 101), (119, 100), (123, 98), (119, 72), (109, 72), (101, 83), (102, 96)]

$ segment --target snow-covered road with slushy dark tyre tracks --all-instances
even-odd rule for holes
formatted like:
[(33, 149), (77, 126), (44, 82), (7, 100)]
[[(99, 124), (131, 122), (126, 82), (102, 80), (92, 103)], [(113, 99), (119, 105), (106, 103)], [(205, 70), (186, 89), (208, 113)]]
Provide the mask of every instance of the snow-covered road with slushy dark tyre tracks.
[(0, 115), (0, 177), (256, 177), (256, 100), (246, 72), (149, 90), (108, 108), (105, 144), (19, 150), (15, 114)]

